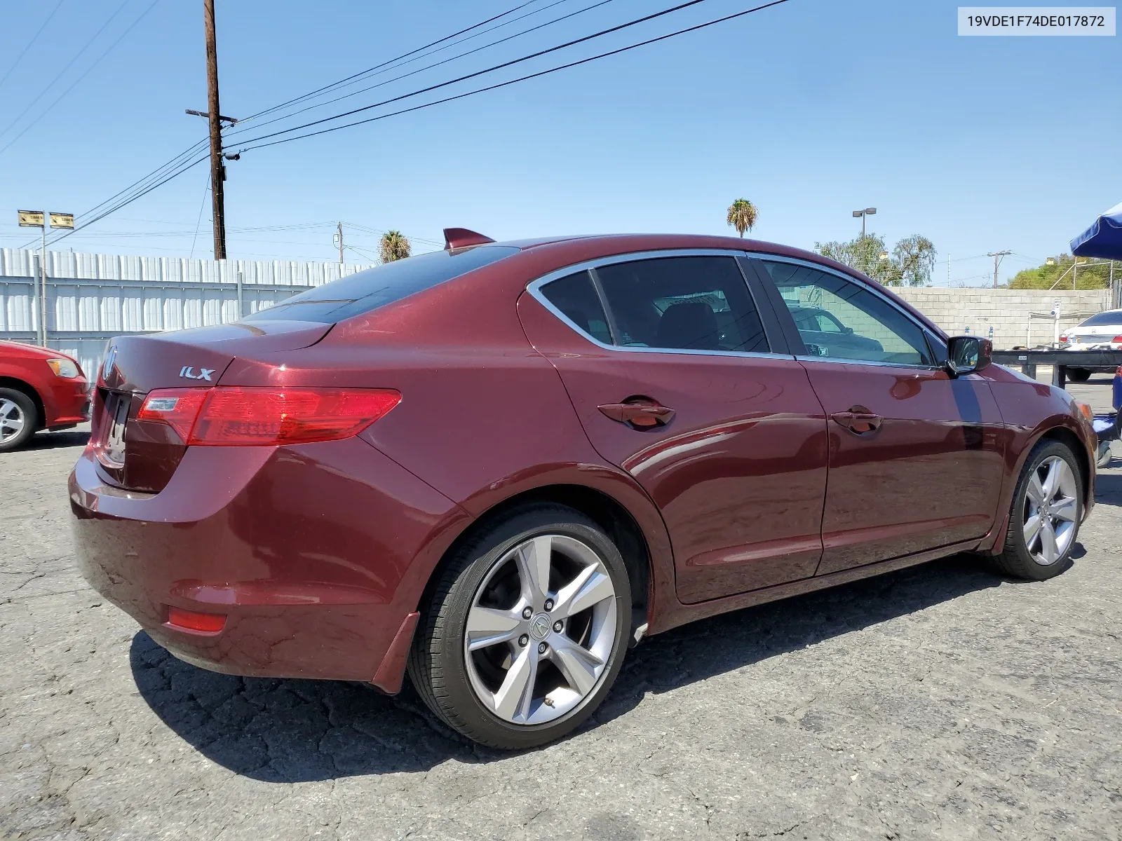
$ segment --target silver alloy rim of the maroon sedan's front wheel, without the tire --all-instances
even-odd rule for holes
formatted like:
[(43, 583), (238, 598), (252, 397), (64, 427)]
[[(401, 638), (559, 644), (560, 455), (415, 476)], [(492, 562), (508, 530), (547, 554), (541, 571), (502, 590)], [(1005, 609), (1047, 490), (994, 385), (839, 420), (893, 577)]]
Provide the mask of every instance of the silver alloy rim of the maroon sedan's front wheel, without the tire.
[(1024, 547), (1041, 566), (1051, 566), (1075, 539), (1078, 483), (1072, 466), (1050, 455), (1032, 471), (1024, 488)]

